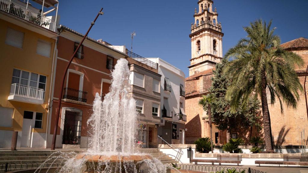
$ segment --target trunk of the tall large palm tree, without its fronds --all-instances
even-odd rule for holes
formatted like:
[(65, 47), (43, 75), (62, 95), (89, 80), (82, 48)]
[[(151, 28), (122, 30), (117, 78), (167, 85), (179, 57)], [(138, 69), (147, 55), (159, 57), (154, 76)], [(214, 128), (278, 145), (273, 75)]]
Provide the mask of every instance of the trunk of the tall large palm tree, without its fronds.
[(261, 104), (262, 104), (262, 114), (263, 114), (263, 130), (264, 130), (264, 140), (266, 151), (272, 151), (272, 140), (271, 140), (271, 128), (270, 128), (270, 114), (267, 105), (266, 97), (266, 84), (265, 84), (265, 74), (262, 79), (262, 91), (261, 91)]

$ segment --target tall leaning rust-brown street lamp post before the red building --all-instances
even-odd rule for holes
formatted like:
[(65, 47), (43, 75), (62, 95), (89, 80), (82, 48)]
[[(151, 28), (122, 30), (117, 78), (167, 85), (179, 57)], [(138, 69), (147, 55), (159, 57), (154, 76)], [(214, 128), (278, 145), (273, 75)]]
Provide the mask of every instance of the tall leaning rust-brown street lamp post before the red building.
[(64, 81), (65, 81), (65, 76), (68, 70), (68, 67), (70, 66), (71, 62), (74, 59), (75, 54), (77, 53), (77, 51), (79, 50), (79, 47), (81, 46), (81, 44), (83, 43), (84, 39), (86, 39), (87, 35), (89, 34), (92, 26), (95, 24), (96, 19), (98, 18), (99, 15), (103, 15), (104, 13), (102, 12), (103, 8), (100, 9), (99, 13), (96, 15), (95, 19), (93, 22), (91, 22), (91, 26), (89, 27), (87, 33), (84, 35), (84, 37), (82, 38), (81, 42), (79, 43), (79, 45), (77, 46), (75, 52), (73, 53), (73, 55), (71, 56), (71, 60), (67, 63), (66, 69), (64, 71), (63, 77), (62, 77), (62, 83), (61, 83), (61, 87), (59, 90), (59, 102), (58, 102), (58, 107), (56, 108), (56, 121), (55, 121), (55, 125), (54, 125), (54, 134), (52, 136), (52, 143), (51, 143), (51, 150), (55, 150), (55, 145), (56, 145), (56, 138), (57, 138), (57, 131), (58, 131), (58, 123), (59, 123), (59, 116), (60, 116), (60, 108), (61, 108), (61, 102), (62, 102), (62, 94), (63, 94), (63, 86), (64, 86)]

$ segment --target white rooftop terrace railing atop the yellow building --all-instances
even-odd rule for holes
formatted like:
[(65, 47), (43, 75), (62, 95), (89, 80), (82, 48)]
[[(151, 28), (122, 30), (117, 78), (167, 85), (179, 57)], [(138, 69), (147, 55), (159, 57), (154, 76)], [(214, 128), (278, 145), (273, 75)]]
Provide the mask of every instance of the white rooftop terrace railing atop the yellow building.
[(19, 18), (25, 19), (36, 25), (43, 26), (49, 30), (56, 30), (56, 23), (54, 20), (42, 16), (41, 10), (37, 13), (31, 11), (23, 6), (11, 2), (10, 0), (0, 0), (0, 10), (10, 13)]

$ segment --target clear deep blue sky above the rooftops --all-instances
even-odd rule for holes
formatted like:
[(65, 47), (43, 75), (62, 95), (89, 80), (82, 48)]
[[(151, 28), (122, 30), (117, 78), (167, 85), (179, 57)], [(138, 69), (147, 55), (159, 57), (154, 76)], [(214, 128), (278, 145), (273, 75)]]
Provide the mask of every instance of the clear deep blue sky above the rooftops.
[[(60, 24), (85, 33), (101, 7), (90, 31), (91, 38), (112, 45), (131, 46), (143, 57), (159, 57), (180, 68), (188, 77), (191, 58), (190, 34), (198, 0), (59, 0)], [(214, 0), (222, 24), (224, 53), (246, 36), (242, 27), (262, 18), (273, 19), (283, 42), (308, 37), (308, 0)]]

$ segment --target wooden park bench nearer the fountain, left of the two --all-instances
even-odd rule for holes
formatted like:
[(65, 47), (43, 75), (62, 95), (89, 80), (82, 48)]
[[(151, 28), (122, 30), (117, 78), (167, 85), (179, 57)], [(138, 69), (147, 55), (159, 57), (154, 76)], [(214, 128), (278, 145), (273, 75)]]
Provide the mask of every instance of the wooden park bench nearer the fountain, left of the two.
[(219, 163), (219, 165), (221, 165), (221, 163), (237, 163), (237, 166), (239, 166), (239, 164), (242, 161), (242, 155), (217, 155), (217, 159), (191, 159), (191, 162), (195, 162), (195, 164), (197, 165), (198, 162), (202, 162), (202, 163), (212, 163), (212, 165), (214, 165), (214, 163)]

